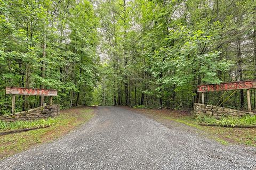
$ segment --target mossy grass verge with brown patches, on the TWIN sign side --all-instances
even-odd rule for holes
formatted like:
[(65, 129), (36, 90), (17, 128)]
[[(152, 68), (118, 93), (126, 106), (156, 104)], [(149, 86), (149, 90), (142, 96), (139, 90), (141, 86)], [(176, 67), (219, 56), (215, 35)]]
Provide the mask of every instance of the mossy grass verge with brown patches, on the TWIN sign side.
[[(58, 123), (45, 129), (37, 129), (21, 133), (0, 136), (0, 159), (27, 150), (40, 143), (50, 142), (67, 134), (93, 117), (91, 108), (73, 108), (61, 111)], [(6, 131), (6, 130), (0, 130)]]

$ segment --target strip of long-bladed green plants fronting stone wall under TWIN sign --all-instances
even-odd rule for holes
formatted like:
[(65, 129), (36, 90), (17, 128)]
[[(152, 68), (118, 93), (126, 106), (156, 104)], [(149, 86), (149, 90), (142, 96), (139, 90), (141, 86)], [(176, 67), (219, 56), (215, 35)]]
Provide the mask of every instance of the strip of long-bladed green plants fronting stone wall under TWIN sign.
[(0, 129), (1, 130), (16, 130), (16, 129), (27, 129), (27, 128), (40, 128), (45, 126), (54, 126), (58, 123), (59, 118), (47, 118), (46, 120), (40, 119), (35, 121), (17, 121), (6, 123), (4, 121), (0, 121)]

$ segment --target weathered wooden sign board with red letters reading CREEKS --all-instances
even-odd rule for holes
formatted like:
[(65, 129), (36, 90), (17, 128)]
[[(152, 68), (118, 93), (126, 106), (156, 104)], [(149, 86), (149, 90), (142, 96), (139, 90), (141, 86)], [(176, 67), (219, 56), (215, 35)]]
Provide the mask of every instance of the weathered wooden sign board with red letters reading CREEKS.
[(256, 80), (228, 82), (220, 84), (207, 84), (197, 86), (197, 92), (225, 91), (256, 88)]

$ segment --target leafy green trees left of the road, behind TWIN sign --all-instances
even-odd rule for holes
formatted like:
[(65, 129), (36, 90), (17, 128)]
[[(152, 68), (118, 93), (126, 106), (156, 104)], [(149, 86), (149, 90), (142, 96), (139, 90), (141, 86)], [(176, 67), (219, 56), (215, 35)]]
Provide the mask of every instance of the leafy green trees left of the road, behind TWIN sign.
[[(0, 8), (0, 115), (10, 112), (6, 86), (57, 89), (62, 108), (90, 105), (99, 63), (91, 2), (8, 0)], [(39, 97), (17, 97), (17, 111), (39, 105)]]

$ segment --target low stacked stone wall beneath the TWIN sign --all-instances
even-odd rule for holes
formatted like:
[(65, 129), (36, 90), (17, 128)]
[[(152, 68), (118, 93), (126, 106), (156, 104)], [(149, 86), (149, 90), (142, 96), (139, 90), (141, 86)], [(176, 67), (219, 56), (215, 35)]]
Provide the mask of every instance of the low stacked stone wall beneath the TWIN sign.
[(0, 116), (0, 120), (5, 122), (33, 121), (41, 118), (56, 117), (59, 113), (59, 105), (47, 105), (11, 115)]

